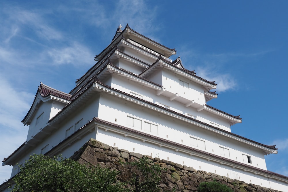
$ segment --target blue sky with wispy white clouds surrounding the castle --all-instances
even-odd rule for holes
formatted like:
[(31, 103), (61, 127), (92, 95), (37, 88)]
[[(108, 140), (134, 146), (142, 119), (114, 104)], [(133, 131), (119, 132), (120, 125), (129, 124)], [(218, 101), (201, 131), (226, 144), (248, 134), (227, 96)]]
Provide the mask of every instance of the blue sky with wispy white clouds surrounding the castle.
[[(69, 92), (119, 24), (169, 47), (172, 59), (216, 81), (207, 104), (242, 123), (232, 132), (266, 145), (270, 171), (288, 176), (285, 88), (288, 1), (1, 1), (0, 158), (25, 140), (40, 82)], [(12, 167), (0, 166), (0, 184)]]

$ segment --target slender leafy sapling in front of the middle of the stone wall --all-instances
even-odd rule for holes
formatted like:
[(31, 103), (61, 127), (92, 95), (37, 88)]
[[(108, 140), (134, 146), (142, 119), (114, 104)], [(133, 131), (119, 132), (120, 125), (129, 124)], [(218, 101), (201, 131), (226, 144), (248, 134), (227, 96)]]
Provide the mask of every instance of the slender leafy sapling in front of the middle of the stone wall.
[(157, 192), (161, 181), (161, 171), (165, 170), (148, 157), (142, 157), (139, 161), (127, 163), (132, 166), (133, 177), (130, 185), (135, 192)]

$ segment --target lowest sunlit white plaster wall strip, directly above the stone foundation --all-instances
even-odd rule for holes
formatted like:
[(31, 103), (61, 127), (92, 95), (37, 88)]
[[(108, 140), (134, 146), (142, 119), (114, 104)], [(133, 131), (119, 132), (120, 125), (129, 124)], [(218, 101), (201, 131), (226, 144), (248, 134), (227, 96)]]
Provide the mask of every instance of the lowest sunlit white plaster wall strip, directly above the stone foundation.
[(281, 182), (271, 182), (264, 176), (255, 175), (254, 173), (245, 172), (236, 168), (221, 165), (213, 161), (207, 161), (196, 156), (190, 156), (188, 154), (167, 149), (165, 147), (159, 147), (158, 145), (151, 144), (149, 142), (142, 142), (131, 137), (124, 137), (114, 132), (104, 131), (98, 129), (96, 140), (106, 143), (110, 146), (118, 147), (119, 149), (126, 149), (135, 153), (141, 153), (144, 155), (150, 155), (152, 157), (158, 157), (160, 159), (169, 160), (175, 163), (179, 163), (186, 166), (191, 166), (196, 170), (204, 170), (207, 172), (216, 173), (222, 176), (227, 176), (232, 179), (238, 179), (245, 181), (246, 183), (253, 183), (264, 187), (277, 189), (281, 191), (287, 191), (287, 185)]

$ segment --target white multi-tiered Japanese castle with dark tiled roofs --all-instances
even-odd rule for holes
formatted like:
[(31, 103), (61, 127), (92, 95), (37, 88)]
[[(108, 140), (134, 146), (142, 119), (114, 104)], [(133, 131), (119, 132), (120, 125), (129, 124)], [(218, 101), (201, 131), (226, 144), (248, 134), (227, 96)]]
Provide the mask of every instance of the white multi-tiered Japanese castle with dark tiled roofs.
[[(70, 157), (90, 138), (135, 153), (279, 191), (288, 177), (270, 172), (265, 145), (231, 132), (241, 123), (208, 104), (217, 84), (185, 69), (168, 48), (126, 25), (95, 57), (96, 64), (65, 93), (40, 83), (22, 120), (26, 141), (2, 165), (19, 172), (33, 153)], [(0, 186), (0, 191), (8, 191)]]

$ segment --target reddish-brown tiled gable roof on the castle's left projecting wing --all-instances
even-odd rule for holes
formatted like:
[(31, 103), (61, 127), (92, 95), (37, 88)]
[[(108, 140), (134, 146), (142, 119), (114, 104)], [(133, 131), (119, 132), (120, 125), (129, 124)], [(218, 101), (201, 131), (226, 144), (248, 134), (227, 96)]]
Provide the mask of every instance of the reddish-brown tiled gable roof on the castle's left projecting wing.
[(62, 99), (66, 99), (66, 100), (70, 100), (71, 99), (71, 95), (70, 94), (67, 94), (67, 93), (64, 93), (64, 92), (61, 92), (61, 91), (58, 91), (56, 89), (53, 89), (51, 87), (48, 87), (47, 85), (43, 84), (42, 82), (40, 82), (40, 85), (38, 86), (38, 90), (36, 92), (36, 95), (34, 97), (34, 100), (32, 102), (32, 105), (28, 111), (28, 113), (26, 114), (26, 116), (24, 117), (24, 119), (21, 121), (22, 123), (25, 121), (25, 119), (27, 118), (28, 114), (30, 113), (32, 107), (33, 107), (33, 104), (35, 103), (35, 99), (37, 97), (37, 94), (40, 94), (42, 97), (47, 97), (49, 95), (53, 95), (53, 96), (56, 96), (56, 97), (59, 97), (59, 98), (62, 98)]

